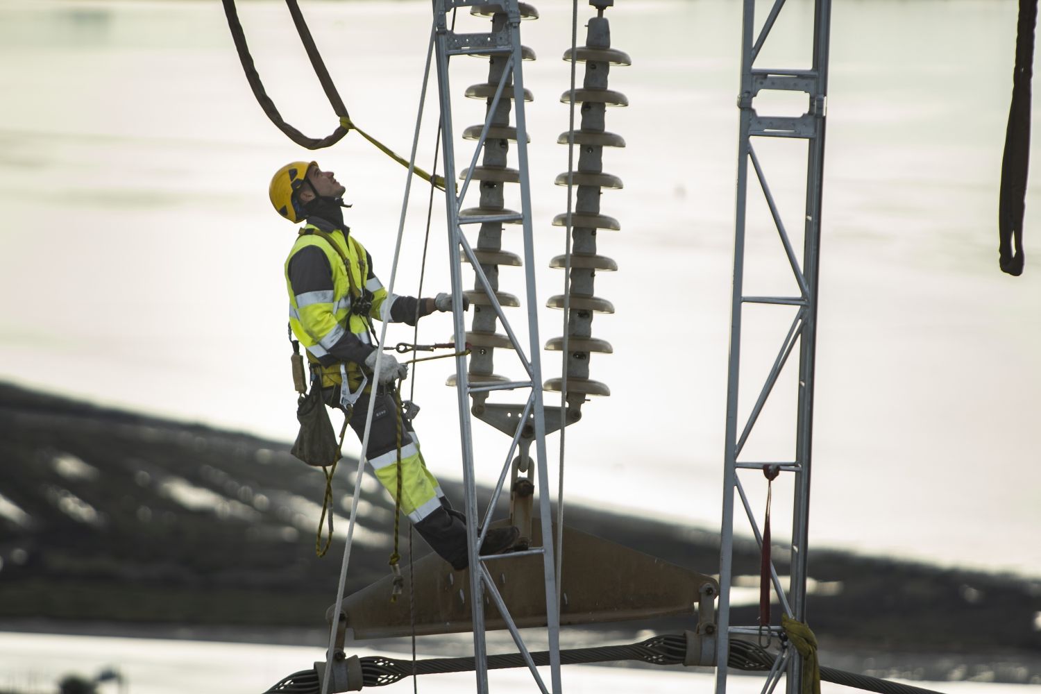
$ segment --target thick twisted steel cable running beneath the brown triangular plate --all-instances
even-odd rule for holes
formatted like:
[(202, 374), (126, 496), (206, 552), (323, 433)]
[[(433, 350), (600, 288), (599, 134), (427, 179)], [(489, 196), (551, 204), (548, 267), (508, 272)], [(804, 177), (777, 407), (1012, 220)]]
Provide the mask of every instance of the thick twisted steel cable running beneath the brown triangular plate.
[[(585, 663), (641, 661), (652, 665), (682, 665), (686, 652), (687, 636), (685, 634), (666, 634), (633, 644), (561, 650), (560, 662), (564, 665), (579, 665)], [(533, 652), (531, 653), (531, 658), (535, 665), (544, 666), (550, 663), (549, 651)], [(416, 661), (414, 665), (406, 661), (384, 658), (382, 656), (369, 656), (359, 660), (361, 661), (363, 687), (392, 685), (413, 674), (413, 672), (416, 674), (440, 674), (447, 672), (471, 672), (474, 670), (473, 658), (433, 658)], [(527, 667), (527, 663), (520, 653), (488, 656), (487, 660), (489, 670)], [(764, 672), (770, 670), (776, 662), (776, 653), (755, 643), (740, 639), (730, 640), (730, 656), (727, 660), (728, 667)], [(911, 685), (828, 667), (820, 668), (820, 678), (824, 682), (854, 687), (867, 692), (877, 692), (878, 694), (940, 694), (934, 690), (921, 687), (913, 687)], [(804, 677), (805, 680), (806, 677)], [(314, 670), (302, 670), (280, 680), (269, 689), (265, 694), (273, 692), (318, 694), (318, 675), (314, 673)]]

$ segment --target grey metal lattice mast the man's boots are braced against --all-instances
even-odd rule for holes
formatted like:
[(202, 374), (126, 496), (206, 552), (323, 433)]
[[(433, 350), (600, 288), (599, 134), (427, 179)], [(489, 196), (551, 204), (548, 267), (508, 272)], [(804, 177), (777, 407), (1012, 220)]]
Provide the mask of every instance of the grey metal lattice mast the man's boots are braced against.
[[(474, 15), (491, 18), (491, 30), (488, 32), (456, 33), (448, 26), (449, 10), (469, 6)], [(513, 437), (511, 453), (522, 435), (529, 439), (523, 447), (534, 444), (538, 485), (549, 487), (547, 454), (545, 454), (545, 411), (542, 403), (541, 364), (539, 360), (538, 323), (533, 313), (527, 314), (529, 339), (527, 344), (518, 341), (510, 319), (506, 316), (505, 307), (516, 306), (519, 302), (510, 301), (507, 294), (499, 291), (498, 268), (500, 264), (519, 265), (517, 256), (502, 250), (502, 225), (519, 223), (523, 228), (526, 300), (531, 305), (535, 300), (535, 276), (531, 265), (534, 256), (531, 222), (531, 196), (528, 187), (527, 173), (527, 133), (523, 104), (530, 101), (530, 93), (524, 89), (520, 63), (524, 57), (531, 56), (531, 51), (520, 46), (519, 23), (522, 16), (537, 16), (534, 9), (516, 0), (504, 0), (501, 3), (474, 4), (471, 0), (434, 0), (435, 48), (437, 56), (438, 97), (443, 124), (442, 145), (445, 153), (445, 177), (453, 180), (456, 177), (455, 143), (452, 129), (452, 99), (449, 84), (449, 57), (453, 55), (484, 55), (489, 58), (488, 82), (472, 85), (466, 89), (466, 96), (485, 100), (486, 121), (479, 126), (467, 128), (464, 136), (479, 140), (472, 161), (472, 170), (462, 172), (463, 185), (458, 191), (454, 186), (446, 190), (447, 215), (449, 226), (449, 256), (452, 272), (453, 288), (453, 319), (454, 334), (457, 343), (463, 340), (471, 343), (475, 350), (473, 358), (466, 360), (457, 357), (456, 375), (449, 383), (457, 390), (459, 405), (459, 421), (463, 464), (463, 484), (465, 488), (464, 510), (466, 513), (467, 537), (469, 546), (469, 583), (474, 625), (474, 659), (477, 669), (477, 691), (487, 692), (487, 653), (484, 639), (485, 617), (484, 603), (494, 605), (507, 628), (510, 629), (520, 654), (529, 662), (532, 675), (540, 689), (549, 691), (542, 684), (541, 675), (531, 663), (530, 653), (522, 635), (503, 602), (493, 579), (480, 557), (480, 532), (486, 529), (479, 521), (477, 508), (477, 486), (472, 439), (472, 416), (492, 425), (500, 431)], [(512, 79), (512, 85), (509, 80)], [(516, 101), (519, 100), (519, 103)], [(510, 103), (513, 101), (515, 130), (508, 125)], [(501, 104), (501, 105), (500, 105)], [(512, 132), (511, 132), (512, 131)], [(483, 142), (482, 142), (483, 138)], [(516, 170), (506, 165), (508, 142), (517, 143)], [(478, 157), (483, 154), (481, 163)], [(481, 202), (478, 207), (460, 210), (462, 201), (468, 192), (469, 184), (476, 182), (479, 186)], [(515, 212), (504, 208), (503, 183), (519, 183), (520, 211)], [(481, 225), (478, 232), (479, 242), (471, 246), (463, 229), (473, 229)], [(461, 278), (460, 262), (462, 256), (474, 263), (477, 281), (475, 289), (465, 292)], [(473, 329), (466, 330), (465, 315), (462, 312), (462, 295), (467, 293), (475, 306)], [(505, 334), (497, 332), (497, 323)], [(527, 380), (508, 381), (493, 374), (493, 350), (497, 348), (512, 348), (516, 351), (518, 360), (527, 371)], [(467, 363), (467, 361), (469, 363)], [(471, 375), (473, 374), (473, 379)], [(529, 389), (529, 397), (524, 405), (502, 405), (486, 402), (486, 393), (502, 389)], [(512, 461), (504, 464), (506, 470)], [(491, 502), (494, 507), (501, 487), (497, 486)], [(481, 522), (479, 526), (479, 522)], [(549, 504), (539, 509), (539, 522), (542, 537), (552, 536), (552, 520), (549, 515)], [(554, 551), (552, 543), (533, 548), (529, 554), (541, 555), (542, 584), (547, 609), (547, 637), (550, 652), (550, 673), (552, 691), (560, 691), (560, 653), (559, 653), (559, 615), (556, 609), (556, 581), (554, 571)], [(524, 555), (514, 556), (515, 559)], [(510, 561), (510, 556), (497, 558), (494, 561)], [(531, 590), (537, 590), (535, 585)]]

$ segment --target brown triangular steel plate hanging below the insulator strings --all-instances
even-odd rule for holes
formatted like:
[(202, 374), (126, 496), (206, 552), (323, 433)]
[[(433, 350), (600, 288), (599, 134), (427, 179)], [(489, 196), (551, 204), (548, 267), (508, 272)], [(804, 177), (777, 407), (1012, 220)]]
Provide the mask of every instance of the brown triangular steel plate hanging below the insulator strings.
[[(505, 521), (494, 523), (504, 524)], [(533, 528), (533, 545), (540, 543)], [(719, 594), (711, 576), (690, 571), (620, 544), (564, 526), (564, 566), (561, 579), (560, 623), (645, 619), (694, 615), (704, 586)], [(496, 588), (519, 627), (545, 626), (545, 581), (542, 556), (501, 555), (487, 562)], [(450, 634), (473, 629), (469, 605), (469, 569), (454, 571), (440, 557), (428, 555), (412, 569), (415, 591), (416, 635)], [(361, 641), (413, 633), (409, 614), (408, 567), (403, 594), (390, 601), (393, 577), (387, 575), (344, 599), (347, 640)], [(506, 628), (498, 609), (485, 595), (485, 628)]]

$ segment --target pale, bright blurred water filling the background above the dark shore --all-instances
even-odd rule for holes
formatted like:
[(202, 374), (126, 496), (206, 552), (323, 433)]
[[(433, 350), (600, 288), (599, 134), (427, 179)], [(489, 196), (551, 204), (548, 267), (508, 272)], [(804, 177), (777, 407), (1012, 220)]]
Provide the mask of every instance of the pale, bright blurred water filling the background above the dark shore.
[[(269, 94), (305, 133), (327, 134), (334, 118), (284, 6), (240, 4)], [(626, 187), (604, 195), (623, 231), (601, 234), (600, 247), (620, 269), (599, 277), (617, 312), (594, 322), (614, 354), (591, 362), (612, 396), (589, 403), (567, 432), (567, 498), (717, 528), (740, 6), (617, 4), (608, 12), (613, 44), (633, 66), (612, 70), (611, 86), (632, 105), (608, 112), (608, 129), (628, 147), (605, 152), (605, 171)], [(304, 9), (352, 118), (407, 154), (428, 4)], [(567, 161), (555, 143), (567, 128), (558, 99), (570, 7), (538, 9), (523, 32), (539, 57), (525, 77), (535, 94), (528, 118), (543, 302), (563, 282), (547, 263), (564, 248), (551, 220), (566, 204), (553, 179)], [(811, 2), (790, 0), (760, 65), (806, 66), (810, 18)], [(1024, 275), (1002, 275), (996, 253), (1015, 21), (1013, 0), (834, 4), (811, 546), (1041, 575), (1037, 186)], [(462, 93), (485, 80), (485, 63), (453, 66), (459, 132), (483, 115)], [(273, 214), (266, 186), (278, 165), (311, 155), (254, 102), (219, 3), (0, 0), (0, 91), (8, 298), (0, 379), (290, 440), (281, 273), (295, 231)], [(428, 98), (418, 156), (428, 169), (435, 108)], [(775, 145), (760, 156), (797, 229), (804, 157)], [(462, 168), (471, 150), (457, 146)], [(313, 156), (348, 186), (349, 224), (388, 283), (404, 170), (356, 134)], [(398, 293), (417, 290), (426, 209), (427, 189), (413, 186)], [(790, 277), (765, 205), (754, 201), (751, 214), (746, 288), (763, 293)], [(424, 294), (449, 286), (442, 220), (435, 198)], [(507, 232), (504, 248), (520, 252), (518, 235)], [(504, 268), (502, 287), (518, 292), (520, 273)], [(543, 340), (562, 334), (560, 313), (538, 310)], [(744, 372), (745, 412), (788, 320), (745, 335), (750, 363), (761, 362)], [(438, 314), (420, 340), (450, 334)], [(402, 329), (388, 339), (410, 337)], [(543, 361), (548, 377), (559, 369), (556, 353)], [(416, 425), (433, 469), (459, 477), (455, 391), (443, 387), (451, 368), (446, 360), (416, 369)], [(500, 352), (497, 370), (520, 368)], [(786, 384), (778, 392), (794, 393)], [(767, 409), (752, 458), (792, 439), (787, 401)], [(476, 428), (479, 474), (489, 482), (506, 443)], [(556, 439), (550, 449), (556, 474)], [(746, 488), (761, 509), (764, 484)], [(776, 536), (787, 524), (783, 497), (775, 496)]]

